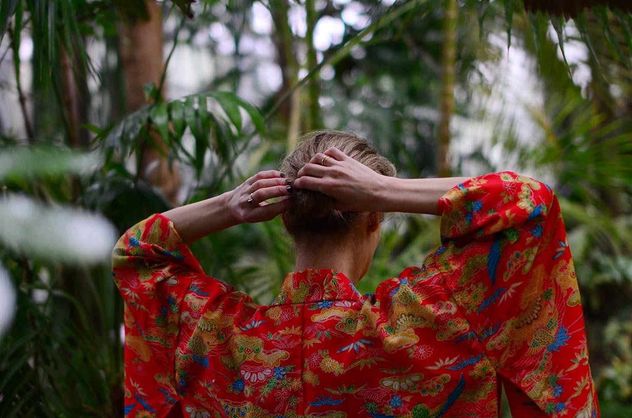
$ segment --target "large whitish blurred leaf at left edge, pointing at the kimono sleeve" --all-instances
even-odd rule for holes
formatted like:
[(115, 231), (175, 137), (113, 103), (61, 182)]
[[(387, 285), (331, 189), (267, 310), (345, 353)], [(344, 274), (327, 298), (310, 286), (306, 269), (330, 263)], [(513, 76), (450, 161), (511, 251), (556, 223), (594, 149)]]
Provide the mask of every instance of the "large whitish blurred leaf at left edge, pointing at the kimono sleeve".
[(116, 230), (102, 215), (49, 207), (25, 196), (0, 199), (0, 243), (66, 263), (106, 261)]

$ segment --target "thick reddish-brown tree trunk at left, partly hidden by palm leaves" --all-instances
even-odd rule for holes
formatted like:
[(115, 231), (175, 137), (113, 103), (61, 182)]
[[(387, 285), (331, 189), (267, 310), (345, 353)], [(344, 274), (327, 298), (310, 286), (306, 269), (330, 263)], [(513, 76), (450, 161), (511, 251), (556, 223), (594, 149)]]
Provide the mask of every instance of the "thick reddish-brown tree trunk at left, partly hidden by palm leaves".
[[(162, 71), (162, 20), (159, 4), (147, 3), (149, 21), (123, 24), (120, 27), (120, 51), (123, 73), (127, 81), (127, 110), (133, 112), (148, 104), (145, 84), (160, 84)], [(164, 154), (167, 146), (157, 134), (152, 134), (154, 144), (142, 146), (138, 172), (140, 177), (153, 186), (159, 186), (166, 198), (176, 200), (179, 186), (179, 170), (170, 169)]]

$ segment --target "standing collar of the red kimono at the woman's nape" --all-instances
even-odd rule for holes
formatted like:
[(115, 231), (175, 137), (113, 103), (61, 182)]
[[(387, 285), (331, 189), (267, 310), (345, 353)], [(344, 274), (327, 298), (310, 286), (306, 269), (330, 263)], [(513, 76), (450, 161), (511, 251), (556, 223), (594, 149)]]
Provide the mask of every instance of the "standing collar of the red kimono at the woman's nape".
[(279, 296), (271, 305), (315, 303), (320, 301), (357, 301), (360, 292), (351, 281), (336, 270), (308, 268), (288, 273)]

